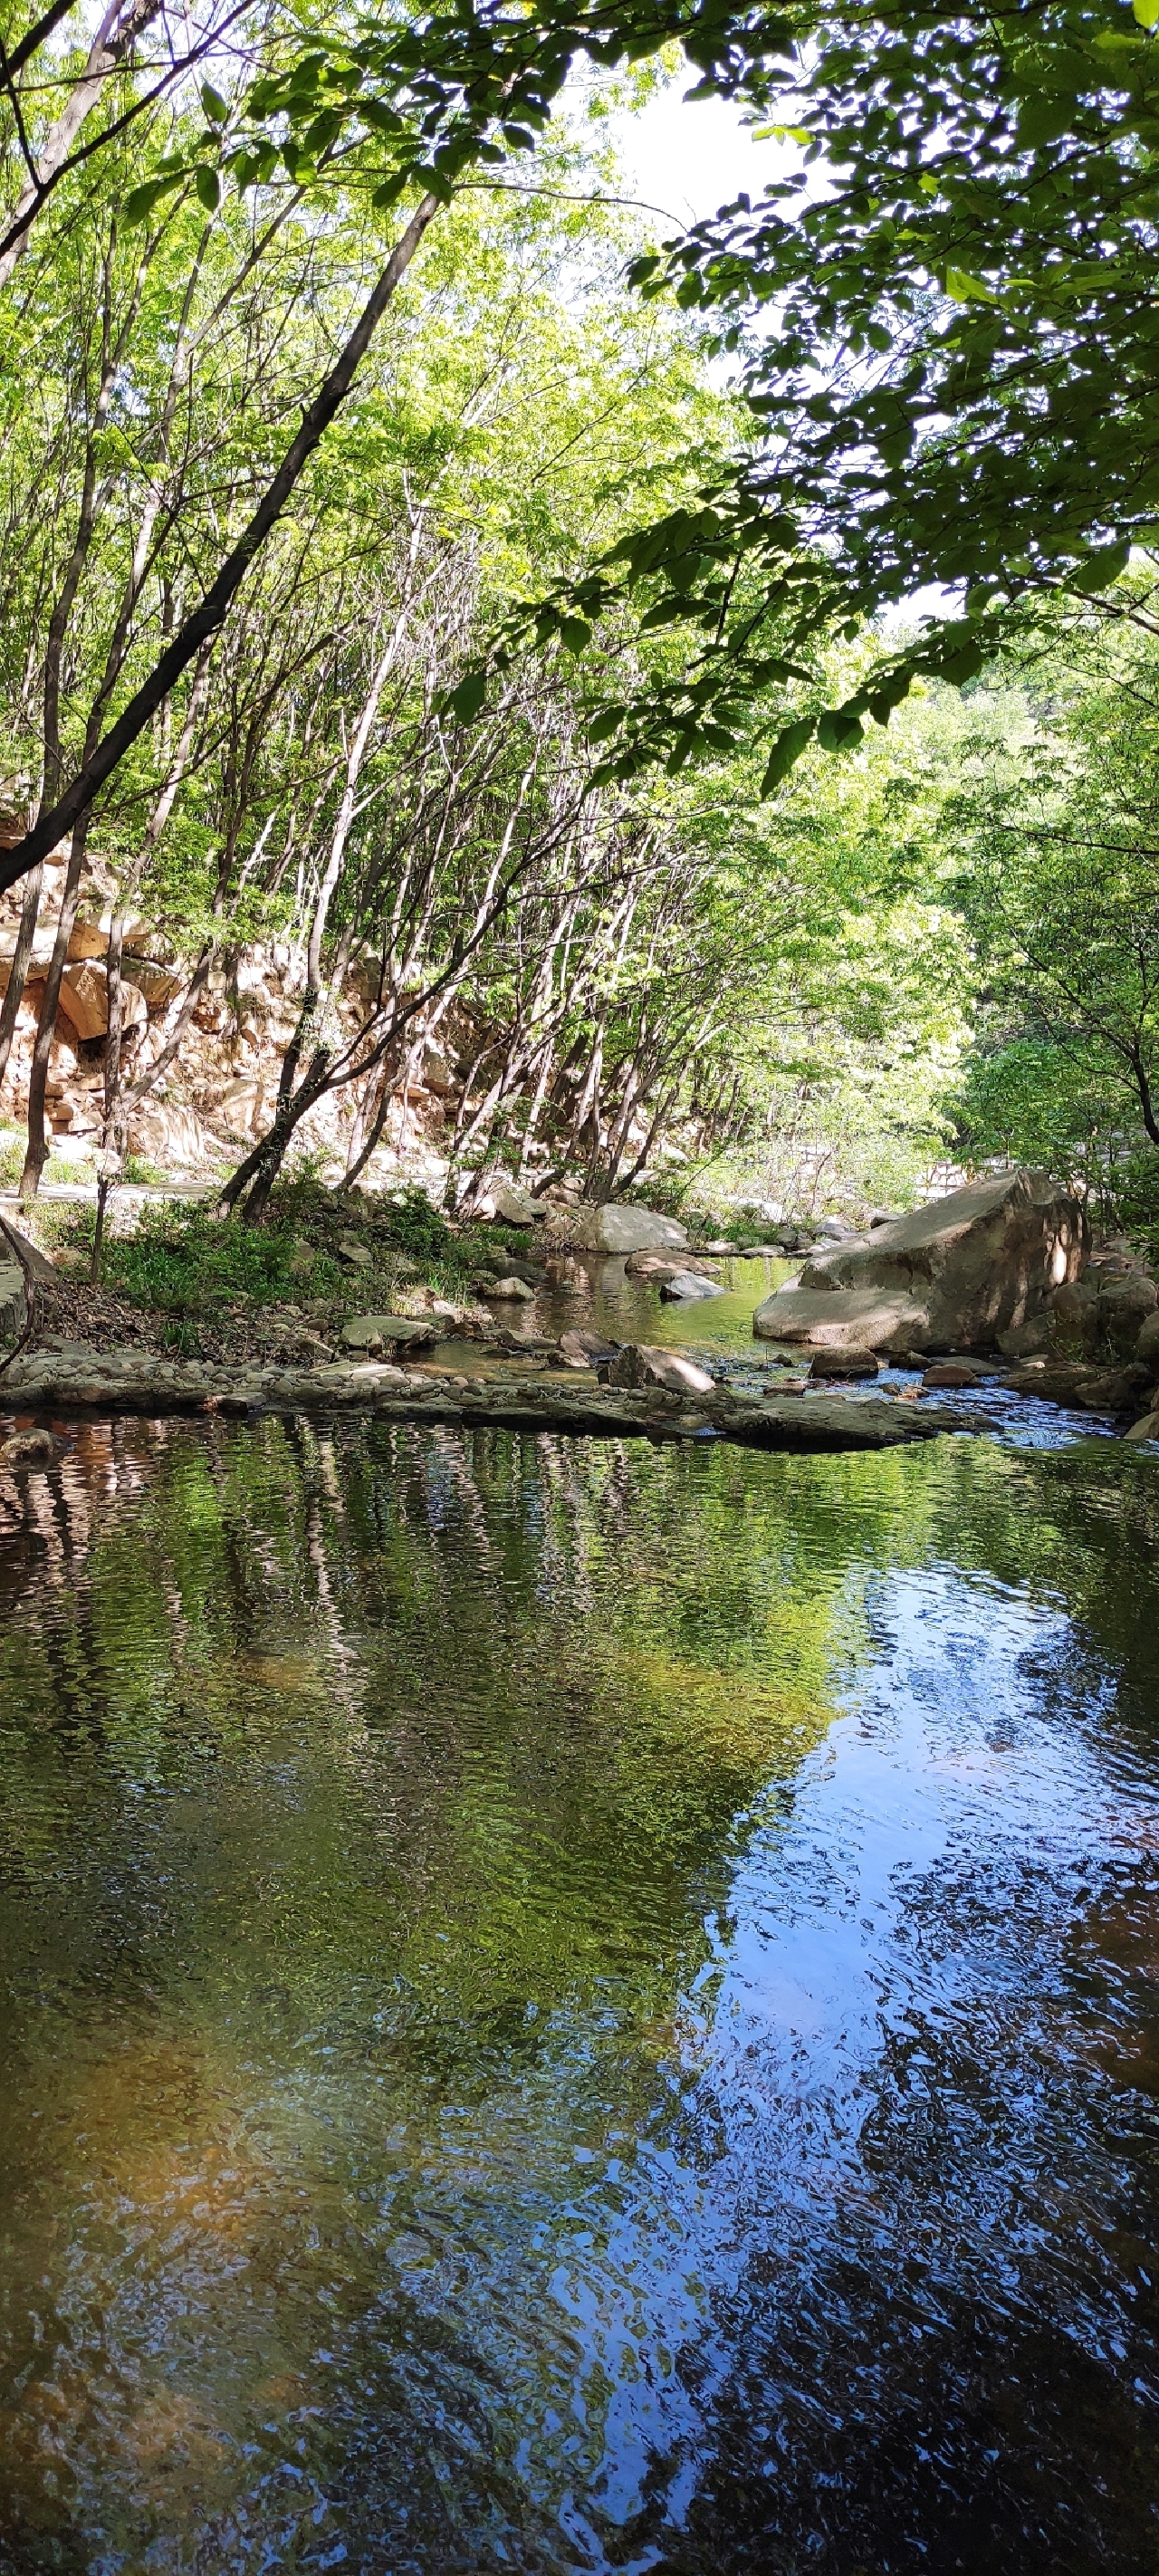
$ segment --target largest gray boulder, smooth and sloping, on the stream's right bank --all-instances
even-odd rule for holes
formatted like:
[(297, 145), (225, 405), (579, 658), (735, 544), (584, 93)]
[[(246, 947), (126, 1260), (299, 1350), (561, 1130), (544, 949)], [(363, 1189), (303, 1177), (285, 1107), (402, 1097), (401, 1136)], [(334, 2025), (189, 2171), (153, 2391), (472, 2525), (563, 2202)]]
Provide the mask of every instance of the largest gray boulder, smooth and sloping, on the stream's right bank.
[(1087, 1257), (1087, 1216), (1046, 1172), (999, 1172), (806, 1260), (796, 1288), (757, 1306), (770, 1342), (986, 1350), (1046, 1316)]

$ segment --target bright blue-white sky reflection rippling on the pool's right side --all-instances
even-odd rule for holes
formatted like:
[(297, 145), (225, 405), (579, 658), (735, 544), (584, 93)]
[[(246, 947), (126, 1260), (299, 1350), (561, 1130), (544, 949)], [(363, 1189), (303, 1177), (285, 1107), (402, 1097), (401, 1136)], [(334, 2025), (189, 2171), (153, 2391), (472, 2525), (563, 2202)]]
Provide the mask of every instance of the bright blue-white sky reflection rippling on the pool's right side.
[[(1066, 2280), (1071, 2228), (1107, 2226), (1120, 2179), (1100, 2172), (1089, 2125), (1069, 1937), (1154, 1801), (1138, 1819), (1133, 1795), (1120, 1803), (1097, 1708), (1059, 1687), (1061, 1613), (940, 1571), (883, 1582), (873, 1628), (850, 1713), (744, 1837), (729, 1929), (698, 1978), (706, 2020), (685, 2032), (690, 2128), (644, 2151), (598, 2277), (582, 2257), (556, 2275), (618, 2378), (592, 2483), (613, 2522), (639, 2512), (649, 2473), (654, 2491), (654, 2447), (675, 2447), (664, 2501), (683, 2519), (711, 2398), (752, 2331), (775, 2414), (778, 2308), (788, 2324), (824, 2308), (827, 2269), (865, 2262), (876, 2300), (901, 2290), (930, 2326), (958, 2293), (1015, 2321), (1051, 2277), (1061, 2331), (1100, 2360), (1123, 2352), (1131, 2285)], [(914, 2136), (927, 2107), (932, 2133)], [(752, 2316), (757, 2254), (780, 2277)], [(873, 2308), (860, 2326), (868, 2352)], [(585, 2563), (628, 2563), (585, 2535)]]

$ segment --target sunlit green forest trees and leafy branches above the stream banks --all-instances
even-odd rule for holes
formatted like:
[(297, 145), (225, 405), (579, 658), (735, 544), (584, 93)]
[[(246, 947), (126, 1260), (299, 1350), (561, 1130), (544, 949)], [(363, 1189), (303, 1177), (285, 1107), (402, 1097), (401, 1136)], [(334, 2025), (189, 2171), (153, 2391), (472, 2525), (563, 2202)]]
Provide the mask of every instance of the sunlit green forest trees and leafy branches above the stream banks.
[[(3, 41), (23, 1185), (98, 858), (103, 1151), (237, 958), (294, 958), (250, 1216), (335, 1103), (358, 1177), (451, 1048), (466, 1175), (1033, 1154), (1146, 1218), (1149, 0)], [(657, 80), (775, 147), (664, 240), (590, 113)]]

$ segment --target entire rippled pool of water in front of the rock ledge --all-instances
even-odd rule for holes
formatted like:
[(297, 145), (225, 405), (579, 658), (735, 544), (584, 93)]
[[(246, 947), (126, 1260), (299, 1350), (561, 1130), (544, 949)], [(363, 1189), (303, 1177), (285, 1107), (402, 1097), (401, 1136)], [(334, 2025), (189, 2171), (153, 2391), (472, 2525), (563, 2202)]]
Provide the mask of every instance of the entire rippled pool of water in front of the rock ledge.
[(1156, 1455), (18, 1502), (3, 2568), (1156, 2566)]

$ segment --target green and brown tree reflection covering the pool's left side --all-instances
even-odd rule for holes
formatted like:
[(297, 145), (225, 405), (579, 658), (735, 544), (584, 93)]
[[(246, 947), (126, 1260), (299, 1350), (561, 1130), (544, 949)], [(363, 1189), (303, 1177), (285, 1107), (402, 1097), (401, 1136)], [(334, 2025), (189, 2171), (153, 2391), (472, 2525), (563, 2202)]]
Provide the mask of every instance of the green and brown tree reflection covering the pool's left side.
[[(657, 2316), (672, 2354), (695, 2339), (695, 2221), (683, 2244), (634, 2141), (680, 2138), (693, 2177), (708, 2154), (680, 1996), (734, 1816), (770, 1783), (791, 1806), (878, 1569), (1033, 1564), (1097, 1607), (1146, 1510), (1087, 1512), (1056, 1461), (963, 1448), (770, 1461), (381, 1422), (93, 1425), (23, 1497), (0, 1543), (23, 2069), (0, 2182), (26, 2311), (49, 2287), (36, 2442), (0, 2427), (5, 2476), (72, 2452), (72, 2501), (36, 2488), (49, 2535), (116, 2491), (131, 2553), (167, 2491), (170, 2527), (216, 2517), (206, 2566), (250, 2543), (258, 2566), (252, 2532), (299, 2512), (276, 2468), (252, 2504), (265, 2411), (314, 2465), (332, 2445), (399, 2563), (489, 2566), (492, 2524), (515, 2550), (523, 2509), (541, 2530), (513, 2473), (528, 2421), (574, 2403), (582, 2488), (608, 2354), (644, 2388)], [(616, 2259), (572, 2161), (608, 2136)], [(549, 2512), (551, 2439), (536, 2463)], [(549, 2563), (525, 2537), (515, 2566)]]

